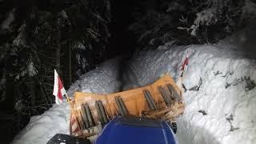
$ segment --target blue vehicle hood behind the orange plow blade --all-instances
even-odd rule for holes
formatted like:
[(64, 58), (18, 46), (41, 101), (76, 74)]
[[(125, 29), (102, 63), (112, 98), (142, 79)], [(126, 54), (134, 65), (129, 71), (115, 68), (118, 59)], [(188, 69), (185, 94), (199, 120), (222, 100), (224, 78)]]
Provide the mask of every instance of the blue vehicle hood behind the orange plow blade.
[(94, 144), (178, 144), (170, 126), (150, 118), (118, 116), (111, 120)]

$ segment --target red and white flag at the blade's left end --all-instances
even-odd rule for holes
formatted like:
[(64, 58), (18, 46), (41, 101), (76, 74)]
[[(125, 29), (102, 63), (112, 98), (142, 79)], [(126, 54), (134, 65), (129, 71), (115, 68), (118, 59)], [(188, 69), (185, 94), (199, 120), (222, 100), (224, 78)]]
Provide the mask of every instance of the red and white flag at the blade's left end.
[(63, 96), (66, 94), (66, 90), (62, 84), (61, 78), (59, 78), (58, 73), (54, 70), (54, 96), (55, 102), (59, 105), (63, 102)]

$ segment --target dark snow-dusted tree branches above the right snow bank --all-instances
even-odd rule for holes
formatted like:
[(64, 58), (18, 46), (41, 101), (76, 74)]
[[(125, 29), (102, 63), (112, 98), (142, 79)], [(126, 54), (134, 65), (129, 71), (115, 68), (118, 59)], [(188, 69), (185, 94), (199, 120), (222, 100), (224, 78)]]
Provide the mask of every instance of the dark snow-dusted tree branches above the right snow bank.
[(255, 18), (250, 0), (146, 0), (139, 2), (130, 26), (144, 48), (218, 42)]

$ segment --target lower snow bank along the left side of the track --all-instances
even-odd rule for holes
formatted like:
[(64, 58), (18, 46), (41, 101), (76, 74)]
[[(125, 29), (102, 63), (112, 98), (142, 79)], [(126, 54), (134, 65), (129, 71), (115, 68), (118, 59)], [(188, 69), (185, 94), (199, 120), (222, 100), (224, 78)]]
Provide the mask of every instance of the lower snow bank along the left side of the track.
[[(81, 76), (70, 86), (68, 94), (74, 90), (107, 94), (118, 91), (118, 60), (112, 59), (101, 66)], [(54, 134), (69, 134), (70, 106), (63, 102), (61, 106), (54, 105), (44, 114), (34, 116), (29, 124), (14, 138), (14, 144), (45, 144)]]

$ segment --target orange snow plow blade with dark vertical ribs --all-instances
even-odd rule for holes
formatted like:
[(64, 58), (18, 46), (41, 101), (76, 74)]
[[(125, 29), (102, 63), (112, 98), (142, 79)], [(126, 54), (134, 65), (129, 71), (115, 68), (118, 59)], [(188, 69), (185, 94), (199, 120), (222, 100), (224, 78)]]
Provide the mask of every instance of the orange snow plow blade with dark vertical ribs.
[[(94, 131), (95, 127), (105, 126), (118, 115), (174, 122), (185, 109), (182, 91), (169, 74), (162, 76), (149, 86), (114, 94), (75, 92), (71, 105), (73, 110), (70, 118), (73, 114), (77, 118), (83, 130), (82, 138), (97, 134)], [(85, 106), (87, 106), (86, 110)], [(71, 127), (70, 123), (70, 134), (72, 134)]]

